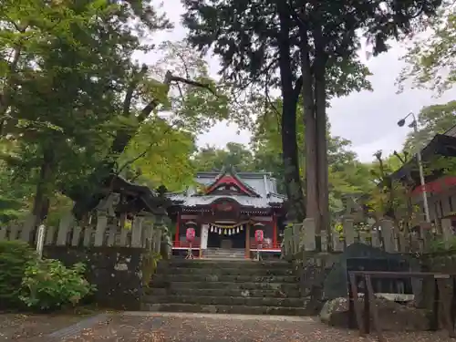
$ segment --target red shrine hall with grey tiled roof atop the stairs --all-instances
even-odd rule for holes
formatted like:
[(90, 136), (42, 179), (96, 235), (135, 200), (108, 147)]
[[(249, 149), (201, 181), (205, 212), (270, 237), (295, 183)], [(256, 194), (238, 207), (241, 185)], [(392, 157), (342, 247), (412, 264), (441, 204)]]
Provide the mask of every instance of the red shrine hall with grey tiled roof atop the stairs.
[[(232, 251), (253, 258), (279, 256), (284, 231), (285, 196), (276, 193), (268, 172), (199, 172), (196, 187), (170, 193), (171, 219), (176, 224), (173, 254), (184, 255), (190, 243), (187, 229), (194, 229), (192, 254), (204, 258), (213, 250)], [(255, 232), (263, 233), (262, 243)], [(189, 232), (193, 232), (190, 230)]]

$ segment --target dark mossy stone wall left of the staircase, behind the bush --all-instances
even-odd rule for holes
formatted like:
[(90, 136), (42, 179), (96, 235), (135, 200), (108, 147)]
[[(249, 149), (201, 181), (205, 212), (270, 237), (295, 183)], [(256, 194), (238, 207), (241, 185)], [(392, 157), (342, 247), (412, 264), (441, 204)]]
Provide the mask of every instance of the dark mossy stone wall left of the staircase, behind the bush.
[(63, 264), (87, 265), (86, 277), (97, 286), (94, 300), (99, 306), (140, 310), (142, 296), (142, 248), (46, 246), (43, 256)]

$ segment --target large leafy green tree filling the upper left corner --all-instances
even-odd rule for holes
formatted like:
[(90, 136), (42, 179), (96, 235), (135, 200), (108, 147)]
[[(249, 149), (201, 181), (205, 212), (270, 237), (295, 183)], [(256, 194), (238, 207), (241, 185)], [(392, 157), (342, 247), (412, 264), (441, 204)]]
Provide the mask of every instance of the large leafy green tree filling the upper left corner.
[[(45, 3), (6, 2), (0, 15), (2, 133), (15, 141), (5, 161), (36, 183), (36, 223), (47, 216), (56, 185), (89, 171), (104, 152), (103, 127), (118, 112), (128, 53), (139, 47), (138, 38), (115, 28), (138, 8)], [(151, 19), (141, 24), (152, 29)]]

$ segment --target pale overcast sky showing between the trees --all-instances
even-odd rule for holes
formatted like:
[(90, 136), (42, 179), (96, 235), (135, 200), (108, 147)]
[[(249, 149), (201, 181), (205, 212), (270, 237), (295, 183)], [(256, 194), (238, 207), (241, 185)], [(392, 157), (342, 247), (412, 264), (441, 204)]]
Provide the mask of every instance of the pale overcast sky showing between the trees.
[[(185, 29), (180, 24), (183, 13), (181, 0), (166, 0), (162, 9), (175, 24), (175, 28), (154, 36), (154, 41), (158, 43), (184, 38)], [(424, 106), (445, 103), (456, 98), (456, 89), (441, 98), (433, 98), (433, 94), (425, 90), (406, 90), (397, 95), (394, 83), (403, 66), (399, 60), (403, 52), (403, 48), (395, 45), (388, 53), (369, 58), (366, 63), (373, 74), (370, 81), (374, 91), (352, 93), (346, 98), (336, 98), (331, 101), (331, 108), (327, 110), (331, 134), (351, 140), (352, 150), (358, 153), (361, 161), (372, 161), (372, 154), (377, 150), (390, 153), (401, 149), (410, 129), (407, 126), (399, 128), (396, 123), (410, 111), (418, 113)], [(156, 56), (150, 54), (144, 59), (152, 62)], [(217, 59), (211, 57), (208, 61), (211, 73), (215, 75), (220, 67)], [(210, 132), (203, 134), (198, 144), (210, 144), (219, 148), (223, 148), (230, 141), (248, 144), (249, 132), (242, 131), (238, 135), (237, 130), (234, 125), (227, 127), (226, 123), (220, 123)]]

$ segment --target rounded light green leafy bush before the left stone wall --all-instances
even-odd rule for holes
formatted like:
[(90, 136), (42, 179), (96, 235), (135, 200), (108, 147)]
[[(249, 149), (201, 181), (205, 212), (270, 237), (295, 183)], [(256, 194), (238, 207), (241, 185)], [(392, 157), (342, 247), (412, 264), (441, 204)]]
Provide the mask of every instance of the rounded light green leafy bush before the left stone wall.
[(26, 267), (22, 280), (21, 300), (38, 310), (53, 310), (61, 306), (76, 306), (95, 286), (84, 278), (85, 265), (67, 268), (58, 260), (40, 260)]

